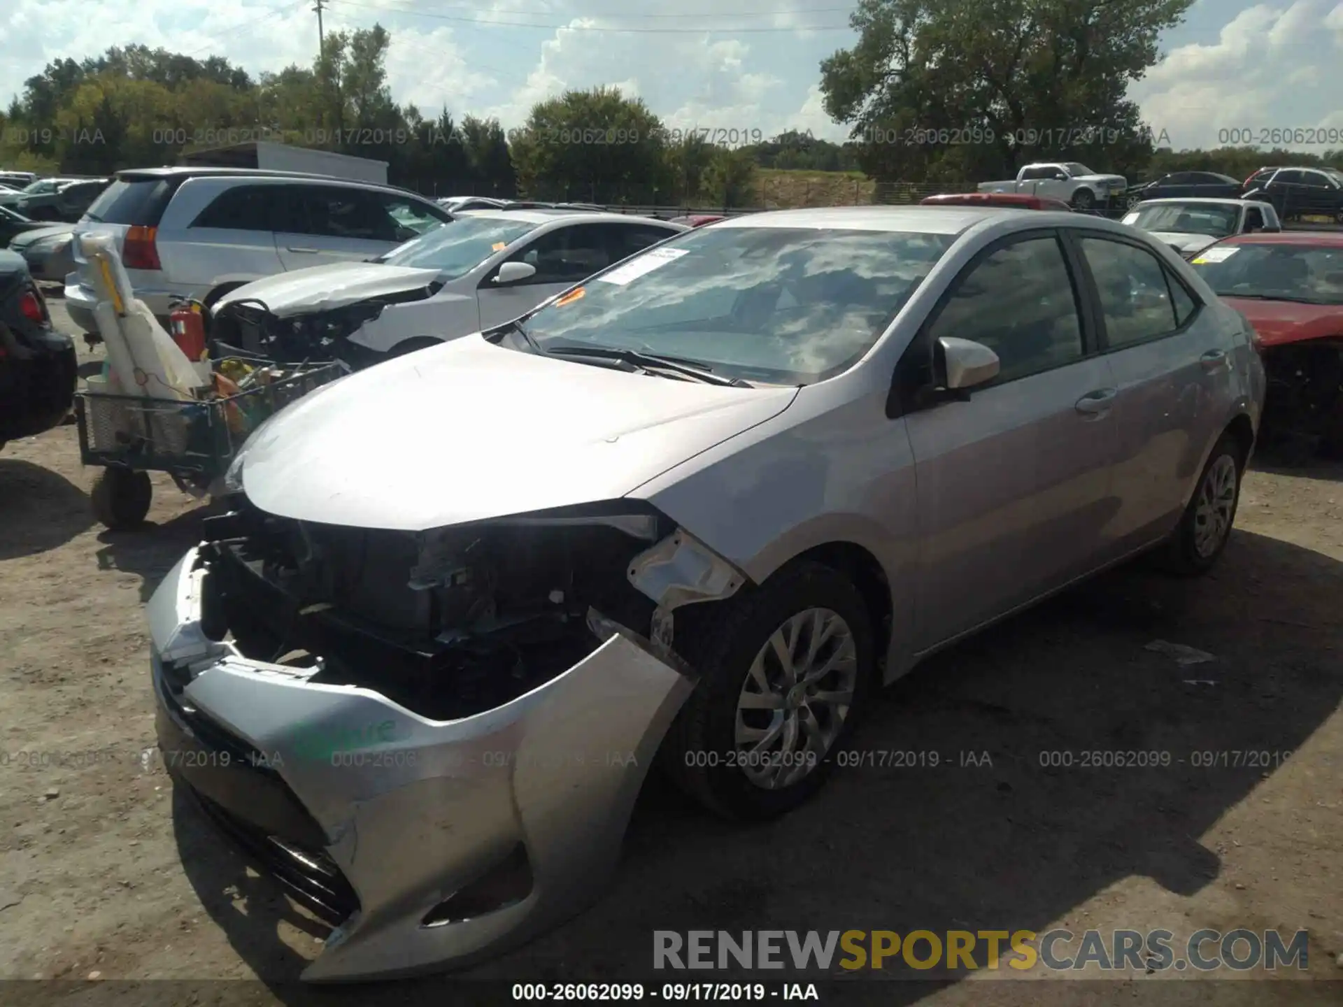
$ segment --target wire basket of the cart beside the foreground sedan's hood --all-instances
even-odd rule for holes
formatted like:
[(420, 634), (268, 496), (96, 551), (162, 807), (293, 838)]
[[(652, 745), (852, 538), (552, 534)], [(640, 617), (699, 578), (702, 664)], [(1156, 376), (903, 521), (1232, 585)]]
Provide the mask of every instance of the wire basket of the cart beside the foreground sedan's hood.
[[(273, 361), (244, 353), (230, 356), (274, 367)], [(223, 475), (262, 422), (348, 373), (340, 363), (285, 369), (290, 373), (270, 384), (197, 401), (81, 392), (75, 399), (81, 458), (85, 465), (115, 465), (199, 479)]]

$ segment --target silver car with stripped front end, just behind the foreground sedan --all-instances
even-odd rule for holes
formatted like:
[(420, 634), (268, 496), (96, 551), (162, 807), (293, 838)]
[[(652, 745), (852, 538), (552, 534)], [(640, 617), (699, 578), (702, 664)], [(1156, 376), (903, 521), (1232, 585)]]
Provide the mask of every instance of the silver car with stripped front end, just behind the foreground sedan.
[(473, 209), (376, 262), (259, 279), (222, 297), (218, 341), (368, 367), (493, 329), (689, 228), (624, 213)]

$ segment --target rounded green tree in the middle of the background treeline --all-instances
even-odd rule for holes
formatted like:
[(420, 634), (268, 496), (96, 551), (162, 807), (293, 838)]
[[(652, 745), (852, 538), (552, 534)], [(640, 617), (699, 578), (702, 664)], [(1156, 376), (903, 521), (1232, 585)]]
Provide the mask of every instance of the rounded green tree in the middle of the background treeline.
[(662, 121), (615, 87), (565, 91), (533, 106), (513, 162), (522, 192), (540, 199), (642, 203), (673, 188)]

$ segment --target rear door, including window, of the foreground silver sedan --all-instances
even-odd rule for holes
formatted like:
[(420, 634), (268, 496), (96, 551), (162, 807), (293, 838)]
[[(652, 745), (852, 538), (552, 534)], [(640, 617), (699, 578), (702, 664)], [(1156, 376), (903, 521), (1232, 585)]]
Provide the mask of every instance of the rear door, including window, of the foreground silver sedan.
[(1228, 336), (1214, 313), (1160, 259), (1119, 235), (1074, 231), (1096, 326), (1119, 396), (1117, 510), (1121, 552), (1167, 533), (1230, 396)]

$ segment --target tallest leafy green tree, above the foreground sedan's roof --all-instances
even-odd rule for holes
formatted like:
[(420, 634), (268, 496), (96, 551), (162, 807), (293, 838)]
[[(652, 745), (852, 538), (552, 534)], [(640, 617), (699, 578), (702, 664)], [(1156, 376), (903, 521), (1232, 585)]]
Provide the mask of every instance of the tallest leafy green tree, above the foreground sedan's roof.
[(821, 64), (826, 111), (885, 180), (948, 157), (971, 177), (1056, 157), (1132, 171), (1152, 144), (1128, 85), (1191, 3), (860, 0), (857, 44)]

